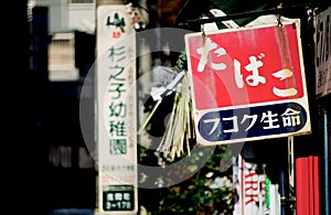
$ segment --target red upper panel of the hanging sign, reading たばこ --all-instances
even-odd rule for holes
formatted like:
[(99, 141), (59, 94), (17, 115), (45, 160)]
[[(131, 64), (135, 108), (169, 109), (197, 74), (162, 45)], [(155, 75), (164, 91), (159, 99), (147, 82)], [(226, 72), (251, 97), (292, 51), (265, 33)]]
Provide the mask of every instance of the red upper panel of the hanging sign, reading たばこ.
[(196, 109), (301, 98), (298, 28), (293, 22), (189, 35)]

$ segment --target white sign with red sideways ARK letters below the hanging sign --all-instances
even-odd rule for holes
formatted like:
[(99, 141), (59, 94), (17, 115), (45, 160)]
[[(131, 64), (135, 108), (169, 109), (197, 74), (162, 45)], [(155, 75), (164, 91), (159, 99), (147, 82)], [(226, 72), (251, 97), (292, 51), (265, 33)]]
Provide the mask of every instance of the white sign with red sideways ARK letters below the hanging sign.
[(278, 215), (280, 194), (265, 173), (265, 164), (247, 162), (242, 155), (233, 165), (235, 204), (233, 215)]

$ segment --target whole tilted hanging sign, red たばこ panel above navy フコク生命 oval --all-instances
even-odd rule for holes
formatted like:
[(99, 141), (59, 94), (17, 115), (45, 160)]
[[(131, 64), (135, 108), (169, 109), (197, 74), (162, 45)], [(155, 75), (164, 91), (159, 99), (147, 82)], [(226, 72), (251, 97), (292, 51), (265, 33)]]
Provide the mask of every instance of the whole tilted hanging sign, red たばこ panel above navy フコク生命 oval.
[(185, 35), (197, 142), (310, 132), (300, 22)]

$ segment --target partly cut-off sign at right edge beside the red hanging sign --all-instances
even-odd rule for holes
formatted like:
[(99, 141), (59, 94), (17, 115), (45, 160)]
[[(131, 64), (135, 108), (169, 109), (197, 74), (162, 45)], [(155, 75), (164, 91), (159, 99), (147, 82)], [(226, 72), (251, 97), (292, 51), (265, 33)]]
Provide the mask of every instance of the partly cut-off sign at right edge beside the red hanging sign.
[(331, 7), (314, 17), (316, 94), (331, 93)]

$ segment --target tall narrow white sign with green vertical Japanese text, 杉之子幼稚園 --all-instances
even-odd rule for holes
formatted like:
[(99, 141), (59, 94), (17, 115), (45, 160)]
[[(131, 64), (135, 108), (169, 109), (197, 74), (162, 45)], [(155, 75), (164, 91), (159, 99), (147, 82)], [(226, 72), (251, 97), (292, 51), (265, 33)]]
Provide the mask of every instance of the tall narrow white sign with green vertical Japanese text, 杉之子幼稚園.
[(124, 4), (97, 8), (100, 214), (137, 214), (136, 37)]

